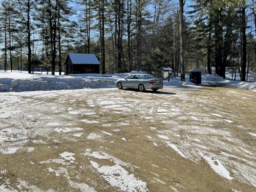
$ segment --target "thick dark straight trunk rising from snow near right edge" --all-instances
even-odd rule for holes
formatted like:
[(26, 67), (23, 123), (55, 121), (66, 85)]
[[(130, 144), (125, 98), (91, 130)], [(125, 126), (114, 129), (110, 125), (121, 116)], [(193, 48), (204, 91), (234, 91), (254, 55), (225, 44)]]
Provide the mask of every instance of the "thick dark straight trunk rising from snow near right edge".
[(246, 76), (246, 15), (245, 7), (242, 8), (242, 66), (241, 66), (241, 81), (245, 81)]

